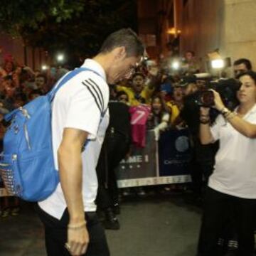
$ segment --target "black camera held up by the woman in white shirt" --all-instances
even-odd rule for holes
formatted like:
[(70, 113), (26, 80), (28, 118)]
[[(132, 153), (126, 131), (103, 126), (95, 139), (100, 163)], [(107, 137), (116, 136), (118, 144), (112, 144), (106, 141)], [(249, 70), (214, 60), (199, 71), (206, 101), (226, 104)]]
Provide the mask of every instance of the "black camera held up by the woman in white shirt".
[(213, 89), (220, 94), (225, 107), (233, 110), (239, 104), (237, 92), (240, 89), (240, 86), (240, 81), (235, 80), (234, 78), (220, 79), (218, 82), (208, 82), (208, 85), (206, 85), (208, 90), (202, 90), (198, 94), (196, 104), (201, 107), (213, 107), (214, 95), (213, 91), (210, 90)]

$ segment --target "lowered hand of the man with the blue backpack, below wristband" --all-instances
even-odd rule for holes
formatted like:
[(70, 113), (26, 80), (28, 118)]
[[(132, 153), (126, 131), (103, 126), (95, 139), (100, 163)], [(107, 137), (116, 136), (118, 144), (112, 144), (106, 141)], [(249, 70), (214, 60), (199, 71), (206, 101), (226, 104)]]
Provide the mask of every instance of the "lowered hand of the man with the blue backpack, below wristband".
[(82, 228), (68, 228), (68, 251), (73, 256), (84, 255), (88, 244), (89, 244), (89, 234), (86, 226)]

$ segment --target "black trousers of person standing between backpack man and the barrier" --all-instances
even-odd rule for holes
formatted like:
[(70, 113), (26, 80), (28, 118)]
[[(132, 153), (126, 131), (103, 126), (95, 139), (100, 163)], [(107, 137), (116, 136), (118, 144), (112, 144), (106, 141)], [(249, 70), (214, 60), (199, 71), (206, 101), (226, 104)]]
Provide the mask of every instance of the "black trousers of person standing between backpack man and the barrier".
[(106, 134), (97, 164), (98, 191), (96, 203), (99, 208), (110, 208), (118, 203), (118, 188), (115, 169), (129, 149), (126, 137), (121, 134)]

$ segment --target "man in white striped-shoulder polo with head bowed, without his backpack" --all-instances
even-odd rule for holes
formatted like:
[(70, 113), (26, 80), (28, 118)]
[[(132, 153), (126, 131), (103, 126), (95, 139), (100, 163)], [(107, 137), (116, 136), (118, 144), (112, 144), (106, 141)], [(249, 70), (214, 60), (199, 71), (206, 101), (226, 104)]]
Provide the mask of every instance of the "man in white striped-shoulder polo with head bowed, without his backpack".
[[(68, 80), (53, 100), (53, 152), (60, 183), (38, 203), (48, 256), (108, 256), (104, 230), (95, 213), (100, 154), (109, 114), (109, 88), (128, 78), (144, 54), (129, 28), (112, 33), (84, 70)], [(86, 143), (85, 143), (86, 142)]]

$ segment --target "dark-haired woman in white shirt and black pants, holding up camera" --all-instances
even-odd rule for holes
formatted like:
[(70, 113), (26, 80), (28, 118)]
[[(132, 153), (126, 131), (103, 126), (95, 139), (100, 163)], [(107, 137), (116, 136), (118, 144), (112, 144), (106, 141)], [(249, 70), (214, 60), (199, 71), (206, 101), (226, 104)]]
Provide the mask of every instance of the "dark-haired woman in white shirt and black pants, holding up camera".
[(218, 238), (230, 215), (235, 215), (238, 231), (238, 255), (254, 252), (256, 213), (256, 73), (238, 78), (240, 102), (228, 110), (218, 92), (213, 90), (218, 115), (210, 126), (210, 109), (201, 107), (200, 139), (202, 144), (220, 141), (215, 167), (209, 178), (198, 242), (198, 256), (218, 255)]

